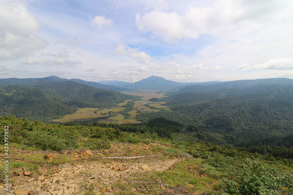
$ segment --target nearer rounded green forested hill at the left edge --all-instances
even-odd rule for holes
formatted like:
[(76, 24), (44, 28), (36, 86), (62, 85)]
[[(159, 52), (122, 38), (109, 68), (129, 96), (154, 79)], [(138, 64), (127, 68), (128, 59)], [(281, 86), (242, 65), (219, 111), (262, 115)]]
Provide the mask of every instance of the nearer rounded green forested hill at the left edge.
[(50, 120), (77, 110), (64, 98), (52, 96), (38, 89), (5, 85), (0, 86), (0, 115), (14, 115), (29, 120)]

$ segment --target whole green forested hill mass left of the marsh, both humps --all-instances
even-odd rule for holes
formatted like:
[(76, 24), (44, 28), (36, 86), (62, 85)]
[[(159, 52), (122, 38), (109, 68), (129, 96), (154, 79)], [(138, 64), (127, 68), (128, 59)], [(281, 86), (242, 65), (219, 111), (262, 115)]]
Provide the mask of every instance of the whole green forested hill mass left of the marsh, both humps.
[(0, 115), (47, 121), (74, 113), (78, 107), (113, 107), (136, 96), (98, 89), (73, 81), (30, 87), (0, 86)]

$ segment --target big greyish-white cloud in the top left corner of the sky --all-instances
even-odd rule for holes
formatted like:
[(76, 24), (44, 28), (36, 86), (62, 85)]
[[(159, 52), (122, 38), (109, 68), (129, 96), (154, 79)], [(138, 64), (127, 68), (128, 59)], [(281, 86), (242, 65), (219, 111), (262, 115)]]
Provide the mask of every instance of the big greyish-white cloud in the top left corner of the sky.
[[(7, 5), (12, 8), (8, 9)], [(0, 14), (0, 61), (18, 59), (48, 45), (47, 41), (34, 34), (39, 23), (21, 1), (12, 4), (4, 0), (0, 10), (5, 11), (5, 14)]]

